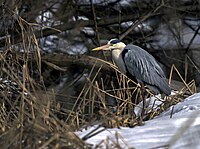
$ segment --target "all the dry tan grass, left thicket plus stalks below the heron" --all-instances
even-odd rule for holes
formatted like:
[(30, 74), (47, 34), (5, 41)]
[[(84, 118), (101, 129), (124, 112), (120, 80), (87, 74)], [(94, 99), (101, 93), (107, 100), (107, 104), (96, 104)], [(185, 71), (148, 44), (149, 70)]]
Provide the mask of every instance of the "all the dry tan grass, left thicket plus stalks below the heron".
[[(187, 84), (179, 75), (185, 87), (166, 100), (159, 97), (153, 99), (154, 102), (161, 103), (152, 106), (150, 110), (146, 109), (141, 118), (134, 112), (137, 104), (142, 101), (140, 86), (121, 74), (114, 65), (104, 61), (116, 70), (117, 81), (110, 80), (108, 87), (103, 78), (97, 79), (101, 68), (96, 70), (94, 64), (82, 91), (76, 97), (73, 109), (65, 109), (69, 114), (63, 113), (55, 100), (57, 95), (53, 91), (47, 91), (44, 86), (40, 48), (33, 33), (35, 25), (21, 18), (17, 21), (23, 41), (16, 47), (23, 49), (23, 54), (17, 54), (9, 36), (6, 37), (4, 51), (0, 53), (1, 148), (90, 148), (84, 140), (101, 131), (80, 139), (73, 133), (75, 129), (94, 124), (102, 124), (106, 128), (142, 125), (144, 120), (154, 118), (169, 106), (195, 93), (195, 82)], [(35, 63), (30, 59), (35, 59)], [(98, 61), (102, 60), (97, 59)], [(173, 72), (179, 74), (175, 66), (172, 67), (170, 82)], [(153, 96), (149, 90), (146, 92), (147, 97)], [(116, 104), (110, 105), (111, 100)], [(66, 119), (59, 119), (58, 113), (65, 115)], [(116, 138), (123, 142), (119, 134), (116, 134)], [(122, 148), (119, 141), (115, 142), (110, 138), (102, 144), (112, 144), (108, 148)], [(124, 144), (128, 146), (127, 143)]]

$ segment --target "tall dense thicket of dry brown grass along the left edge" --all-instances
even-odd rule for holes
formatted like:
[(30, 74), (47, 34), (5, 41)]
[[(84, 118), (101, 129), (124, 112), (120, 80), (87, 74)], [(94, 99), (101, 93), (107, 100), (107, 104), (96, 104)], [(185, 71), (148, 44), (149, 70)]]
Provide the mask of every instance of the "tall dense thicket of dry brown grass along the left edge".
[[(12, 46), (7, 36), (7, 45), (0, 53), (1, 148), (90, 148), (57, 118), (55, 96), (43, 85), (34, 25), (21, 18), (17, 21), (22, 43)], [(16, 47), (23, 52), (19, 54)]]

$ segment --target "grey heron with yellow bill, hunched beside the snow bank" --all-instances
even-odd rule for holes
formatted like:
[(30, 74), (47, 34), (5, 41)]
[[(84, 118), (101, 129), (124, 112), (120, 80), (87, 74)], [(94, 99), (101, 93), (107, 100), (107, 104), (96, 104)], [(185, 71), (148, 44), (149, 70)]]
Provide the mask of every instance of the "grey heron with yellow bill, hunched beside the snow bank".
[(125, 45), (118, 39), (111, 39), (106, 45), (92, 49), (111, 50), (112, 58), (119, 70), (128, 77), (134, 76), (139, 83), (145, 84), (155, 94), (171, 94), (165, 74), (155, 58), (144, 49)]

